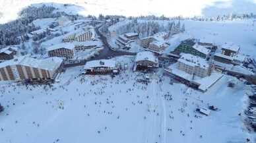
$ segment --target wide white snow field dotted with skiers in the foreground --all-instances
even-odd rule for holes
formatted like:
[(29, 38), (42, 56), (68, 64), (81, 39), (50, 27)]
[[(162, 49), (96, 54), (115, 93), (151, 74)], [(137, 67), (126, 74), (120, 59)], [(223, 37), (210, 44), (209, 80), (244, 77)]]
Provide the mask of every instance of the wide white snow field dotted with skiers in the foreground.
[[(122, 65), (128, 63), (130, 70), (113, 79), (108, 75), (79, 76), (82, 67), (73, 67), (51, 88), (1, 82), (0, 101), (5, 111), (0, 113), (0, 142), (255, 140), (238, 115), (243, 111), (245, 86), (227, 87), (234, 77), (224, 75), (203, 94), (183, 84), (170, 85), (170, 78), (162, 76), (160, 69), (146, 85), (137, 82), (144, 80), (144, 74), (131, 71), (134, 59), (117, 57)], [(196, 108), (208, 105), (220, 110), (208, 116), (195, 113)]]

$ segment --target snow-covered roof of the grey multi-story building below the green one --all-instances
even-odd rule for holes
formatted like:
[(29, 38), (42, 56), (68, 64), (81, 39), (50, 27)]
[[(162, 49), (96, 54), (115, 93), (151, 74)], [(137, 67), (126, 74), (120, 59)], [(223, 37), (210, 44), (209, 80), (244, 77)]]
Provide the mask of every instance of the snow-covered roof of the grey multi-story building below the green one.
[(195, 55), (191, 55), (189, 53), (182, 55), (177, 61), (185, 63), (186, 65), (190, 65), (192, 67), (198, 66), (203, 69), (207, 69), (209, 67), (208, 62), (205, 59)]

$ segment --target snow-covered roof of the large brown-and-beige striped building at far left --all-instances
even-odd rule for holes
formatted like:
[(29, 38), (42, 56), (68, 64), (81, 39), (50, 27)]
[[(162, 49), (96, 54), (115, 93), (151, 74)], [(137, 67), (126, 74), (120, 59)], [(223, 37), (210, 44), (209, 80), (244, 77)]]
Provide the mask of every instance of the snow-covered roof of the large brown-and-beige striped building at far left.
[(1, 67), (7, 67), (8, 65), (24, 65), (28, 67), (34, 67), (38, 69), (53, 70), (59, 67), (62, 63), (62, 59), (59, 57), (49, 57), (48, 59), (34, 59), (29, 57), (30, 55), (24, 55), (22, 57), (17, 57), (16, 59), (11, 59), (0, 63)]

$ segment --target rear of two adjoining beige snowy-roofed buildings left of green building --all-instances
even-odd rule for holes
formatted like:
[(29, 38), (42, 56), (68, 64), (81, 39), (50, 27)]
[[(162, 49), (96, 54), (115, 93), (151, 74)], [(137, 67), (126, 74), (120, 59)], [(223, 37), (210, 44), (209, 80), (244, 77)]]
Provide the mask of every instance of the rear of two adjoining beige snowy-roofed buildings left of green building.
[(141, 47), (147, 48), (149, 43), (153, 41), (162, 41), (166, 40), (168, 38), (167, 32), (159, 32), (157, 34), (154, 34), (153, 36), (148, 36), (145, 38), (141, 38)]

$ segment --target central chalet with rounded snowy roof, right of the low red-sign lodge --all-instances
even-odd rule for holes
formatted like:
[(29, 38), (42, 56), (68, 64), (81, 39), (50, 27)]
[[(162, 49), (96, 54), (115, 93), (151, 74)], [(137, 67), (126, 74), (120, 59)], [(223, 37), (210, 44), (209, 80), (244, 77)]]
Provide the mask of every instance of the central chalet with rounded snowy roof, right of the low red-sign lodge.
[(152, 69), (159, 67), (158, 57), (150, 51), (142, 51), (137, 53), (135, 58), (136, 70)]

